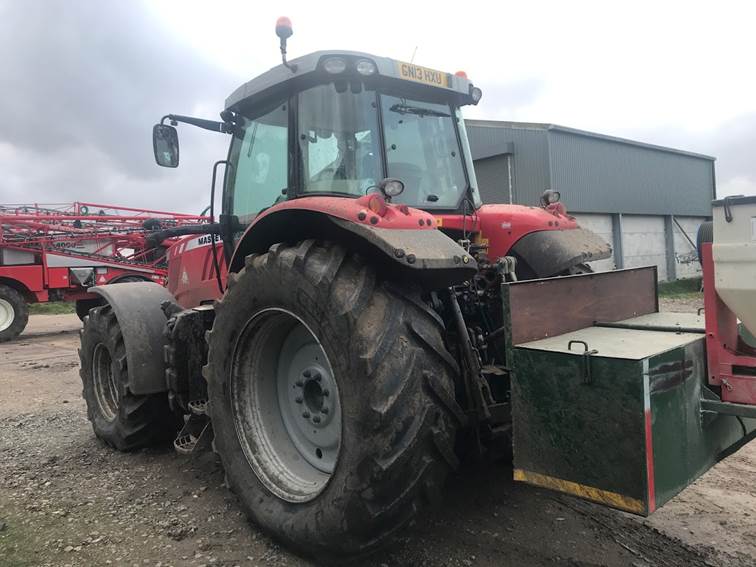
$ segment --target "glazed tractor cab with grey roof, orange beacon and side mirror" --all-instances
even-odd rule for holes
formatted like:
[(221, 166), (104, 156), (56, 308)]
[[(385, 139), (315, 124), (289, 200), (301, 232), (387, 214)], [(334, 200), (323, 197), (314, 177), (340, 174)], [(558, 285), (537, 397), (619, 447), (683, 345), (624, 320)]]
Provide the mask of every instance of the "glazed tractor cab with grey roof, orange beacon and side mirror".
[[(285, 25), (277, 30), (291, 35)], [(223, 209), (243, 224), (284, 200), (378, 192), (386, 178), (401, 181), (386, 194), (394, 203), (451, 212), (463, 201), (480, 205), (460, 108), (481, 96), (463, 73), (319, 51), (291, 62), (284, 55), (281, 65), (239, 87), (221, 123), (176, 115), (163, 122), (231, 134)], [(178, 163), (171, 128), (156, 126), (161, 165)], [(163, 138), (172, 140), (164, 145), (167, 155), (176, 149), (175, 159), (161, 160)]]

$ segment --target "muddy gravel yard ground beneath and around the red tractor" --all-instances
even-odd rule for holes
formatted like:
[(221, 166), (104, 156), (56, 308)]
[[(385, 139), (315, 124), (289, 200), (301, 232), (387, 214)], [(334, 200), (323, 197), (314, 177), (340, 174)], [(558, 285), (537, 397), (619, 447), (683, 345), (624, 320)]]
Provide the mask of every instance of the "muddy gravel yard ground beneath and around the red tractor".
[[(34, 316), (0, 345), (0, 565), (311, 565), (243, 518), (212, 454), (97, 441), (78, 328)], [(645, 520), (515, 484), (507, 464), (468, 465), (442, 506), (359, 565), (752, 567), (755, 445)]]

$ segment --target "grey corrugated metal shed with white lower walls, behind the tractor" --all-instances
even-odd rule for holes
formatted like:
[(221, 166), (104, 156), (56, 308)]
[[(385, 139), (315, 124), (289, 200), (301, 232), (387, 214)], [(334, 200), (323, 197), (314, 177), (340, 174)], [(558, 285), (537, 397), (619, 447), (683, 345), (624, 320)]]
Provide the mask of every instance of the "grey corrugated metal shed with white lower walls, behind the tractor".
[(485, 203), (536, 204), (561, 193), (570, 214), (612, 242), (598, 268), (656, 264), (690, 277), (698, 225), (711, 216), (714, 158), (553, 124), (468, 120)]

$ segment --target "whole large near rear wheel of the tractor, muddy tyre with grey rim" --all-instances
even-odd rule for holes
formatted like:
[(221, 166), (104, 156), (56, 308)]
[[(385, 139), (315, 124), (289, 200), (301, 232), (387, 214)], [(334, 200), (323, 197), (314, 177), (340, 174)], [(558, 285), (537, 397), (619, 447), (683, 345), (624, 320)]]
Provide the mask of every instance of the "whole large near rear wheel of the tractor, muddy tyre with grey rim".
[(458, 464), (440, 319), (333, 243), (275, 245), (229, 284), (205, 369), (229, 486), (301, 553), (371, 551)]

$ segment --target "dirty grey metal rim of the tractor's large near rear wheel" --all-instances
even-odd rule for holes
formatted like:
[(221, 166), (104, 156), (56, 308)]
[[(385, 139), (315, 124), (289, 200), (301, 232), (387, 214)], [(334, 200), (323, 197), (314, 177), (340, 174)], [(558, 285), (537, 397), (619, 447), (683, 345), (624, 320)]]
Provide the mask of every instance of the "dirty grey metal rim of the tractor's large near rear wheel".
[(234, 349), (231, 409), (244, 456), (272, 493), (306, 502), (323, 491), (341, 447), (341, 401), (331, 364), (293, 313), (255, 314)]

